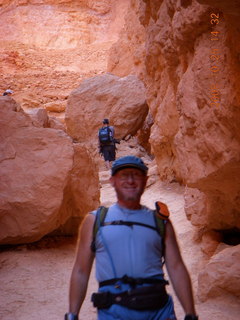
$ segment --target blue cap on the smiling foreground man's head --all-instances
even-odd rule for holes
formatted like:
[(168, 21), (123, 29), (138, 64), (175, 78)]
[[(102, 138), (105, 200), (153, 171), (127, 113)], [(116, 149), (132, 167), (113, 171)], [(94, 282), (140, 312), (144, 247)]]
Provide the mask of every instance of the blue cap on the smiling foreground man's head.
[(121, 169), (125, 168), (136, 168), (141, 170), (144, 174), (147, 174), (148, 167), (142, 161), (142, 159), (135, 156), (121, 157), (113, 162), (112, 165), (112, 176)]

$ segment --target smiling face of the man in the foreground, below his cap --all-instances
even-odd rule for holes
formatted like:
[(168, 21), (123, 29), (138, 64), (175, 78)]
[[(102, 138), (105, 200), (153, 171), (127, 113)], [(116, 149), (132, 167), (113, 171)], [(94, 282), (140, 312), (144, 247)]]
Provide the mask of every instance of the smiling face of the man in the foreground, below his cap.
[(126, 168), (117, 171), (110, 181), (115, 188), (118, 200), (140, 201), (147, 183), (147, 176), (135, 168)]

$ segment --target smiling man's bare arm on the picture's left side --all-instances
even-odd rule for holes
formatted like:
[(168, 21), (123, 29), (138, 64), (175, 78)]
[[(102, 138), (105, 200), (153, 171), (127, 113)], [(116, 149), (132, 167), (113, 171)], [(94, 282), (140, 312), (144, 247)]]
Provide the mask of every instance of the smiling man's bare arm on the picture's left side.
[(95, 216), (88, 214), (80, 227), (77, 254), (72, 270), (69, 290), (69, 312), (78, 314), (86, 296), (94, 254), (91, 251)]

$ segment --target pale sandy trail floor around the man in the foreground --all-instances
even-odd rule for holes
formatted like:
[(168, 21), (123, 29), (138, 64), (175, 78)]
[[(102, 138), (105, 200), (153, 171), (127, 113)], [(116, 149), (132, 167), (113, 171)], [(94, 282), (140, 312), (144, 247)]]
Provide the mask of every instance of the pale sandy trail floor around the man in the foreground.
[[(101, 200), (105, 205), (115, 201), (108, 183), (108, 172), (101, 172)], [(184, 261), (190, 271), (194, 292), (197, 291), (197, 274), (206, 263), (200, 250), (194, 228), (184, 214), (183, 187), (177, 183), (154, 182), (151, 178), (143, 203), (153, 208), (155, 200), (166, 202), (171, 210)], [(2, 250), (0, 253), (0, 319), (1, 320), (60, 320), (68, 309), (68, 286), (74, 261), (76, 239), (43, 239), (36, 244)], [(90, 295), (97, 288), (94, 269), (89, 282), (80, 320), (96, 319), (96, 310)], [(172, 288), (169, 286), (172, 293)], [(178, 319), (184, 314), (174, 297)], [(198, 301), (196, 308), (201, 320), (239, 320), (239, 301), (232, 296)], [(146, 319), (147, 320), (147, 319)]]

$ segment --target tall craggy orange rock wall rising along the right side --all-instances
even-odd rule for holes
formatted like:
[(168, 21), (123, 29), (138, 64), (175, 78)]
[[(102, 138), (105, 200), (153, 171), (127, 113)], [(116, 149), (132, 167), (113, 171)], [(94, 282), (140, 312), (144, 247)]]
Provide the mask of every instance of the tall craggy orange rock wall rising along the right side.
[[(239, 243), (239, 17), (233, 0), (132, 1), (108, 64), (110, 72), (135, 72), (145, 83), (159, 174), (187, 186), (187, 216), (204, 239), (212, 239), (211, 248), (204, 248), (211, 255), (226, 233)], [(143, 57), (141, 70), (131, 59), (126, 67), (121, 46), (125, 60), (129, 52)]]

